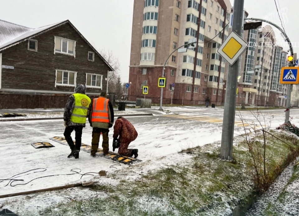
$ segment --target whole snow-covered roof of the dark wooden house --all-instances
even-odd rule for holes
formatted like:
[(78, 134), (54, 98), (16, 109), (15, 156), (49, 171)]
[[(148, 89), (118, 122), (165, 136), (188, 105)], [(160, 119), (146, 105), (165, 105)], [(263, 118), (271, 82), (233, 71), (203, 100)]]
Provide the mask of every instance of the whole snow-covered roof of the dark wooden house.
[[(0, 31), (1, 31), (0, 50), (2, 48), (5, 48), (9, 45), (13, 45), (13, 44), (15, 44), (19, 41), (25, 40), (27, 38), (30, 38), (31, 36), (34, 36), (42, 31), (50, 29), (51, 27), (62, 24), (64, 22), (67, 22), (67, 21), (58, 22), (58, 23), (55, 23), (52, 25), (43, 26), (43, 27), (36, 28), (36, 29), (31, 29), (31, 28), (26, 28), (24, 26), (18, 26), (16, 24), (0, 20)], [(8, 23), (8, 25), (6, 23)], [(7, 35), (7, 36), (6, 35), (3, 36), (3, 41), (2, 41), (2, 29), (4, 30), (4, 33), (6, 33), (6, 35)], [(4, 38), (7, 38), (7, 39), (5, 40)]]

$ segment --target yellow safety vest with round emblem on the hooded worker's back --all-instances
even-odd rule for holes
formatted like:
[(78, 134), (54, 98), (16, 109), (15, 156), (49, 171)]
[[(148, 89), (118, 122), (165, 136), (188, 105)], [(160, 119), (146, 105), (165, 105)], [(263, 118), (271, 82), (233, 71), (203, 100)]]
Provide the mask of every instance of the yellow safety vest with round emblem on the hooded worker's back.
[(76, 93), (73, 95), (75, 97), (75, 107), (71, 115), (71, 121), (74, 123), (85, 124), (91, 99), (85, 94)]

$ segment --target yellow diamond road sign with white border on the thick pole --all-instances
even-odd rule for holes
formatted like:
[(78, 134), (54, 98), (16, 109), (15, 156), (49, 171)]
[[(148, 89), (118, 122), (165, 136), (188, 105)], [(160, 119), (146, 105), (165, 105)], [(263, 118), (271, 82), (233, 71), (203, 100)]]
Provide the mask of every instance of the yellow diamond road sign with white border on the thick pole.
[(219, 47), (218, 53), (230, 65), (233, 65), (246, 48), (247, 43), (238, 34), (232, 31)]

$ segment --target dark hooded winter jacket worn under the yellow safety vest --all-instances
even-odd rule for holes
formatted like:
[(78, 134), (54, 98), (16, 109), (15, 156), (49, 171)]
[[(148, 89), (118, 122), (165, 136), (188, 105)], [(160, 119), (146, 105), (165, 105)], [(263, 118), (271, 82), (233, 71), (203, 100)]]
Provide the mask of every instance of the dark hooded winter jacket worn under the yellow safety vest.
[[(85, 90), (86, 90), (86, 87), (84, 85), (78, 84), (75, 87), (74, 92), (85, 94)], [(77, 126), (85, 127), (85, 124), (75, 123), (75, 122), (70, 121), (74, 107), (75, 107), (75, 97), (74, 97), (74, 95), (70, 95), (68, 98), (68, 101), (65, 104), (63, 120), (68, 122), (67, 123), (68, 126), (76, 126), (77, 125)]]

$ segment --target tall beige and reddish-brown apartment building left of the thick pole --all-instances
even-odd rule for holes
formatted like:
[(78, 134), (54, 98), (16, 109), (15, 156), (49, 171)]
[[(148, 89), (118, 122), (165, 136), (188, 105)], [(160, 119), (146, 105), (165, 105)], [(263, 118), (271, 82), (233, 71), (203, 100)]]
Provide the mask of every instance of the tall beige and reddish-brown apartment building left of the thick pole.
[[(217, 49), (229, 34), (229, 0), (134, 1), (129, 81), (131, 98), (160, 102), (158, 78), (168, 56), (197, 38), (198, 46), (174, 51), (166, 64), (163, 103), (203, 104), (206, 97), (221, 103), (228, 64)], [(174, 85), (174, 90), (172, 89)], [(217, 103), (217, 104), (218, 104)]]

